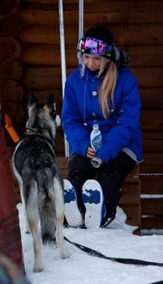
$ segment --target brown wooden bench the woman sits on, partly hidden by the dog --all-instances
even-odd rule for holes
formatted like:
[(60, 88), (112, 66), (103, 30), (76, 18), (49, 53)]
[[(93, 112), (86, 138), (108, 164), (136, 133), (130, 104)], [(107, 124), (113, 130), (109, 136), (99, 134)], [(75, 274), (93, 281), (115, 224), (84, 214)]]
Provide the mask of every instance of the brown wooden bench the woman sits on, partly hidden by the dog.
[[(67, 178), (68, 158), (57, 157), (57, 162), (61, 170), (62, 178)], [(19, 187), (17, 180), (13, 176), (12, 179), (15, 189), (16, 201), (21, 202), (21, 196), (19, 193)], [(133, 234), (141, 234), (141, 202), (140, 202), (140, 177), (139, 177), (139, 165), (135, 165), (133, 171), (128, 174), (124, 182), (124, 187), (122, 189), (122, 198), (119, 201), (119, 207), (122, 207), (126, 214), (126, 224), (137, 226), (138, 228), (133, 232)]]

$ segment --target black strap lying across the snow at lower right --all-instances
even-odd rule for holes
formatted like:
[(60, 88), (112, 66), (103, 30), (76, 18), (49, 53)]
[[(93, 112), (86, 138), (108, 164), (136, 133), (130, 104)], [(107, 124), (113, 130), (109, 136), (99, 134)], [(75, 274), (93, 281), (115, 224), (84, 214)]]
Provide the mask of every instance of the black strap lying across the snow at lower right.
[(133, 258), (117, 258), (117, 257), (109, 257), (105, 256), (101, 252), (98, 252), (95, 249), (90, 249), (90, 247), (85, 247), (84, 245), (79, 245), (78, 243), (71, 242), (64, 236), (64, 239), (70, 243), (71, 245), (75, 245), (75, 247), (78, 247), (78, 249), (81, 249), (83, 252), (86, 252), (86, 254), (89, 254), (90, 256), (96, 256), (99, 258), (108, 259), (108, 261), (114, 261), (116, 263), (124, 263), (124, 264), (130, 264), (130, 265), (154, 265), (154, 266), (162, 266), (163, 263), (153, 263), (151, 261), (141, 261), (139, 259), (133, 259)]

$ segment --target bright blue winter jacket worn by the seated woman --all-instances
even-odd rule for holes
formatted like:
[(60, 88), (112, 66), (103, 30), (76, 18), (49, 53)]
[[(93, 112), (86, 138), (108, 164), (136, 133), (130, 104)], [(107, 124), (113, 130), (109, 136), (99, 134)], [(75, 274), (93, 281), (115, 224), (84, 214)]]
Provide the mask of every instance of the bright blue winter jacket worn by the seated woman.
[(99, 124), (103, 145), (97, 151), (97, 158), (109, 162), (116, 158), (122, 148), (127, 147), (142, 160), (142, 131), (140, 127), (140, 95), (137, 81), (128, 66), (118, 71), (114, 106), (109, 102), (111, 115), (105, 119), (99, 105), (97, 90), (102, 78), (88, 69), (81, 77), (78, 66), (66, 79), (62, 108), (62, 126), (70, 144), (70, 154), (86, 157), (90, 146), (90, 132), (93, 124)]

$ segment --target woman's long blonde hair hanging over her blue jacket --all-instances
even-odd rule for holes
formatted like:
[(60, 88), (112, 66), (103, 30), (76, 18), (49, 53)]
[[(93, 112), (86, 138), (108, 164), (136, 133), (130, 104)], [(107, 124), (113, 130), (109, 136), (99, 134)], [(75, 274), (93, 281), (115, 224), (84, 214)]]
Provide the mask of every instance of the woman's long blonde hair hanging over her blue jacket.
[[(83, 61), (83, 55), (79, 59), (79, 63), (82, 66), (81, 76), (83, 76), (84, 70), (86, 68), (84, 61)], [(109, 108), (109, 104), (108, 104), (109, 100), (111, 100), (112, 104), (114, 105), (114, 93), (115, 93), (115, 86), (117, 82), (117, 66), (110, 59), (101, 57), (101, 65), (100, 65), (99, 74), (97, 77), (102, 75), (104, 70), (106, 70), (106, 74), (104, 75), (102, 84), (99, 86), (98, 93), (99, 93), (99, 104), (102, 108), (102, 114), (104, 118), (107, 118), (109, 117), (109, 114), (111, 113), (111, 109)]]

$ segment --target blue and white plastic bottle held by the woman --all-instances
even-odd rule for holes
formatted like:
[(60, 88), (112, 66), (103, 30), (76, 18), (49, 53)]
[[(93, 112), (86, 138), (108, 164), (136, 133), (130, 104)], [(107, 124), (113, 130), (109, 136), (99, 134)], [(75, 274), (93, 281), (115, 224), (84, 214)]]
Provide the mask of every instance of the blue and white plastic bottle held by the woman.
[(95, 151), (102, 146), (102, 133), (98, 124), (93, 124), (93, 131), (90, 133), (90, 145)]

